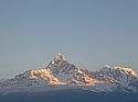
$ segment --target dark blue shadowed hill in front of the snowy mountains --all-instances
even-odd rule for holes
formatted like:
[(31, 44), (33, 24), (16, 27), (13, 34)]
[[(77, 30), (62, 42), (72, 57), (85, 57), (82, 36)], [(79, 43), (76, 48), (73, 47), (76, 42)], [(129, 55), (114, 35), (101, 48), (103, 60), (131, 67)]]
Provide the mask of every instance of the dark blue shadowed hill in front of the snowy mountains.
[(64, 89), (0, 94), (0, 102), (138, 102), (138, 93), (96, 93), (87, 90)]

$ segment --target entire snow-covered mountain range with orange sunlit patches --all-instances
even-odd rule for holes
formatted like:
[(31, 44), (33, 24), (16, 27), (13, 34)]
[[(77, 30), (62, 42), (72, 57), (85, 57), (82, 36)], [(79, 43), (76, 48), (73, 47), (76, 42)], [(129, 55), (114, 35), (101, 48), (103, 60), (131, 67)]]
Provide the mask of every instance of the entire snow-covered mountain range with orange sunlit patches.
[[(68, 86), (93, 92), (138, 92), (138, 73), (131, 68), (105, 66), (98, 71), (79, 69), (55, 55), (43, 69), (28, 70), (14, 78), (0, 81), (0, 88), (32, 88)], [(63, 87), (65, 88), (65, 87)]]

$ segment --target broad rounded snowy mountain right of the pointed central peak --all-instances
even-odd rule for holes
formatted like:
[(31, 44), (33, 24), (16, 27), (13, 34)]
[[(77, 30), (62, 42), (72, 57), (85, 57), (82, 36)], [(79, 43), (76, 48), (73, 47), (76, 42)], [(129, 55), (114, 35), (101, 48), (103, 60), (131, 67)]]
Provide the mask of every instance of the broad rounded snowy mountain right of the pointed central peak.
[(131, 68), (105, 66), (99, 71), (88, 73), (88, 77), (97, 79), (97, 87), (103, 91), (138, 91), (138, 75)]

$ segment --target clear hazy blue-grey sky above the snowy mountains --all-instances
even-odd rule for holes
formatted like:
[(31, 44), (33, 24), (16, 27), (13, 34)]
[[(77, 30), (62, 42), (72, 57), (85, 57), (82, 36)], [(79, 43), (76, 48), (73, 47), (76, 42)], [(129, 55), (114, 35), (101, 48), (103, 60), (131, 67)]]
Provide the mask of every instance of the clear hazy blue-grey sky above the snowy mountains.
[(0, 79), (56, 53), (79, 68), (138, 71), (138, 0), (0, 0)]

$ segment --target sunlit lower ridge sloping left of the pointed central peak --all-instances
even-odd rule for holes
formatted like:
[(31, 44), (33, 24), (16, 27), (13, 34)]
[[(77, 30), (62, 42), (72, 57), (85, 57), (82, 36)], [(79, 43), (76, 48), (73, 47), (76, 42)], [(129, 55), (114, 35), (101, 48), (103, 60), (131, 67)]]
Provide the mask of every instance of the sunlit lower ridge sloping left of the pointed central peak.
[(64, 83), (53, 77), (51, 71), (46, 69), (29, 70), (0, 83), (1, 87), (39, 87), (45, 84)]

